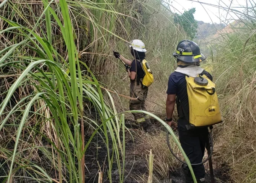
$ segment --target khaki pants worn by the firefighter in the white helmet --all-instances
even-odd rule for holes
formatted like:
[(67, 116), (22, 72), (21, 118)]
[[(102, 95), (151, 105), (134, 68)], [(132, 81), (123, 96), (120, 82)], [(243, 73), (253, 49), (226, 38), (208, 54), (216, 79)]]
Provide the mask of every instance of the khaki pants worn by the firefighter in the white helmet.
[[(134, 81), (131, 81), (130, 96), (133, 98), (137, 98), (137, 97), (139, 98), (137, 100), (130, 100), (130, 110), (147, 111), (145, 107), (146, 95), (147, 95), (147, 87), (143, 88), (143, 85), (141, 83), (137, 85), (137, 83), (135, 83)], [(147, 124), (150, 122), (149, 115), (147, 114), (135, 113), (135, 112), (132, 112), (132, 114), (137, 124), (139, 123)]]

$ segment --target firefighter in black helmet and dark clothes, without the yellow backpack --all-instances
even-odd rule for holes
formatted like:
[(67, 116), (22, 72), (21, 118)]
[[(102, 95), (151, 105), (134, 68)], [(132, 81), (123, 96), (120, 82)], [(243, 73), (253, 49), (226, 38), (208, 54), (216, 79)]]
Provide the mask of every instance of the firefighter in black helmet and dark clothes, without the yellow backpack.
[[(207, 127), (193, 128), (189, 122), (189, 103), (186, 85), (186, 77), (206, 75), (209, 80), (212, 76), (200, 67), (200, 63), (206, 57), (200, 52), (199, 46), (191, 40), (182, 40), (178, 43), (173, 56), (177, 58), (177, 69), (170, 75), (167, 89), (166, 122), (171, 127), (178, 128), (179, 139), (182, 148), (190, 159), (191, 164), (202, 162), (207, 143)], [(172, 120), (173, 110), (177, 103), (178, 126)], [(199, 107), (199, 106), (198, 106)], [(198, 183), (205, 182), (204, 165), (192, 166)], [(186, 183), (193, 183), (188, 166), (183, 164)]]

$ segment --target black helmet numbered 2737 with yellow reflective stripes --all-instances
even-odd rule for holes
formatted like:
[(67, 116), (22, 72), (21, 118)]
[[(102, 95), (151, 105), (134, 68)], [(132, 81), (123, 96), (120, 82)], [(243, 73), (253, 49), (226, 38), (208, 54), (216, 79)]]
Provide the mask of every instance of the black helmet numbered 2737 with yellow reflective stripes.
[(186, 63), (198, 63), (206, 59), (206, 57), (200, 53), (199, 46), (191, 40), (182, 40), (179, 42), (173, 56)]

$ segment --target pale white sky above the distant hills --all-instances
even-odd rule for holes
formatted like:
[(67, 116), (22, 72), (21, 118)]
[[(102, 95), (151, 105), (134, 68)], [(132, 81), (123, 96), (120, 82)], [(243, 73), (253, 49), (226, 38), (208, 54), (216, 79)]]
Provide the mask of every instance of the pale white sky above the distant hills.
[[(199, 3), (199, 2), (201, 3)], [(226, 19), (238, 19), (239, 17), (232, 11), (228, 11), (230, 3), (232, 2), (230, 9), (244, 11), (246, 7), (246, 0), (166, 0), (169, 2), (169, 7), (174, 13), (183, 13), (185, 10), (190, 8), (196, 8), (196, 13), (194, 13), (194, 18), (198, 21), (208, 22), (208, 23), (227, 23)], [(217, 6), (222, 6), (226, 8), (222, 10), (218, 7), (214, 7), (212, 4)], [(248, 6), (249, 6), (248, 0)]]

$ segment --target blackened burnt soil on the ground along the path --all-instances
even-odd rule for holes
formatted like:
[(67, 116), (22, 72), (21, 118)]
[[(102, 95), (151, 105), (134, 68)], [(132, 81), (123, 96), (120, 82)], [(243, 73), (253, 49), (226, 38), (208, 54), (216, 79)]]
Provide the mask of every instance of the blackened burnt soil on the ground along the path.
[[(164, 127), (159, 125), (156, 121), (152, 121), (152, 125), (149, 129), (148, 134), (154, 135), (154, 132), (156, 130), (163, 130), (165, 131)], [(131, 134), (133, 133), (144, 133), (140, 129), (131, 129)], [(147, 154), (149, 152), (141, 153), (141, 140), (137, 139), (136, 135), (131, 136), (128, 131), (126, 131), (125, 134), (125, 170), (124, 170), (124, 182), (125, 183), (143, 183), (147, 180), (148, 175), (148, 163), (147, 163)], [(86, 140), (89, 140), (90, 134), (87, 134)], [(105, 138), (104, 138), (105, 140)], [(86, 161), (86, 182), (87, 183), (94, 183), (98, 181), (98, 172), (99, 167), (97, 165), (97, 161), (99, 162), (99, 165), (101, 167), (101, 170), (103, 171), (103, 182), (108, 183), (109, 182), (109, 176), (107, 173), (108, 170), (108, 159), (107, 159), (107, 147), (104, 142), (104, 140), (99, 136), (96, 135), (92, 139), (86, 154), (85, 154), (85, 161)], [(122, 141), (122, 139), (121, 139)], [(163, 141), (162, 143), (166, 143)], [(112, 147), (112, 144), (109, 143), (109, 147)], [(143, 149), (144, 150), (144, 149)], [(148, 149), (149, 150), (149, 149)], [(112, 154), (112, 149), (109, 149), (110, 154)], [(115, 156), (115, 155), (114, 155)], [(121, 167), (122, 165), (122, 157), (120, 157)], [(230, 171), (229, 167), (226, 165), (226, 163), (223, 160), (217, 160), (213, 157), (213, 163), (214, 163), (214, 175), (215, 175), (215, 182), (216, 183), (229, 183), (230, 176), (228, 175), (228, 172)], [(121, 171), (122, 172), (122, 171)], [(176, 167), (172, 167), (172, 169), (169, 169), (169, 177), (163, 178), (161, 175), (159, 175), (157, 172), (154, 173), (154, 180), (153, 182), (178, 182), (178, 183), (184, 183), (184, 174), (181, 169), (181, 164)], [(115, 161), (112, 165), (112, 182), (113, 183), (119, 183), (120, 182), (120, 174), (118, 172), (118, 166), (117, 162)], [(172, 180), (172, 181), (171, 181)], [(206, 168), (206, 180), (208, 182), (211, 182), (209, 169)]]

